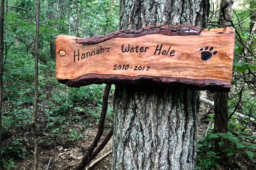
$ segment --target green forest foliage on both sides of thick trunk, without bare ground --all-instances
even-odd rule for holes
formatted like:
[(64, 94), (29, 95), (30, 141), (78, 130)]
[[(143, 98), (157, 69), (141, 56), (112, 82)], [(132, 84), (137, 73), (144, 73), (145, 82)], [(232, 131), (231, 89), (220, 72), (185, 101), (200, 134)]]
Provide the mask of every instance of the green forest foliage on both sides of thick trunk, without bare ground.
[[(220, 3), (218, 0), (211, 2), (209, 29), (221, 27), (218, 21)], [(253, 123), (256, 118), (255, 6), (255, 0), (235, 1), (233, 6), (230, 26), (236, 28), (236, 44), (228, 102), (229, 132), (214, 134), (208, 130), (205, 138), (198, 139), (195, 169), (220, 168), (221, 158), (215, 152), (212, 140), (220, 137), (229, 141), (224, 150), (229, 158), (229, 167), (250, 169), (256, 163), (256, 126)], [(56, 145), (75, 145), (84, 141), (84, 131), (97, 130), (105, 85), (68, 88), (59, 84), (55, 78), (55, 37), (68, 34), (87, 38), (116, 31), (119, 1), (42, 0), (40, 8), (37, 50), (39, 95), (35, 130), (39, 148), (56, 151)], [(35, 102), (35, 10), (35, 0), (5, 1), (0, 160), (3, 170), (21, 169), (33, 164), (31, 122)], [(110, 93), (106, 130), (112, 126), (113, 92), (114, 86)], [(211, 94), (208, 99), (213, 100)], [(244, 117), (237, 116), (238, 113)], [(211, 107), (204, 116), (205, 121), (214, 122)], [(86, 153), (88, 148), (80, 149)], [(58, 157), (56, 154), (53, 156)], [(29, 161), (24, 164), (24, 160)], [(108, 169), (108, 166), (103, 168)]]

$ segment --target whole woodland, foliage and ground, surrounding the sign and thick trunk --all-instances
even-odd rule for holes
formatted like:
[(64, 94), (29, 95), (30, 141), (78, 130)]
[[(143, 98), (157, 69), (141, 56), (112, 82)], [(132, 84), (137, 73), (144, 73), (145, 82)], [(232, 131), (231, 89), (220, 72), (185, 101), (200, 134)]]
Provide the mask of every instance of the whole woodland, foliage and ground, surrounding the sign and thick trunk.
[[(69, 88), (59, 84), (55, 78), (55, 37), (67, 34), (87, 38), (116, 31), (120, 2), (1, 2), (0, 169), (74, 169), (91, 152), (99, 127), (104, 127), (100, 142), (113, 133), (115, 86)], [(203, 135), (197, 138), (195, 169), (253, 170), (256, 164), (256, 1), (216, 0), (209, 4), (208, 29), (236, 28), (233, 80), (229, 93), (201, 92), (201, 97), (208, 100), (201, 102), (199, 112), (198, 133)], [(105, 122), (101, 119), (104, 112)], [(223, 121), (221, 125), (217, 125), (219, 120)], [(96, 158), (110, 154), (111, 140)], [(108, 156), (92, 169), (110, 169), (110, 162)], [(87, 165), (90, 163), (87, 161)]]

